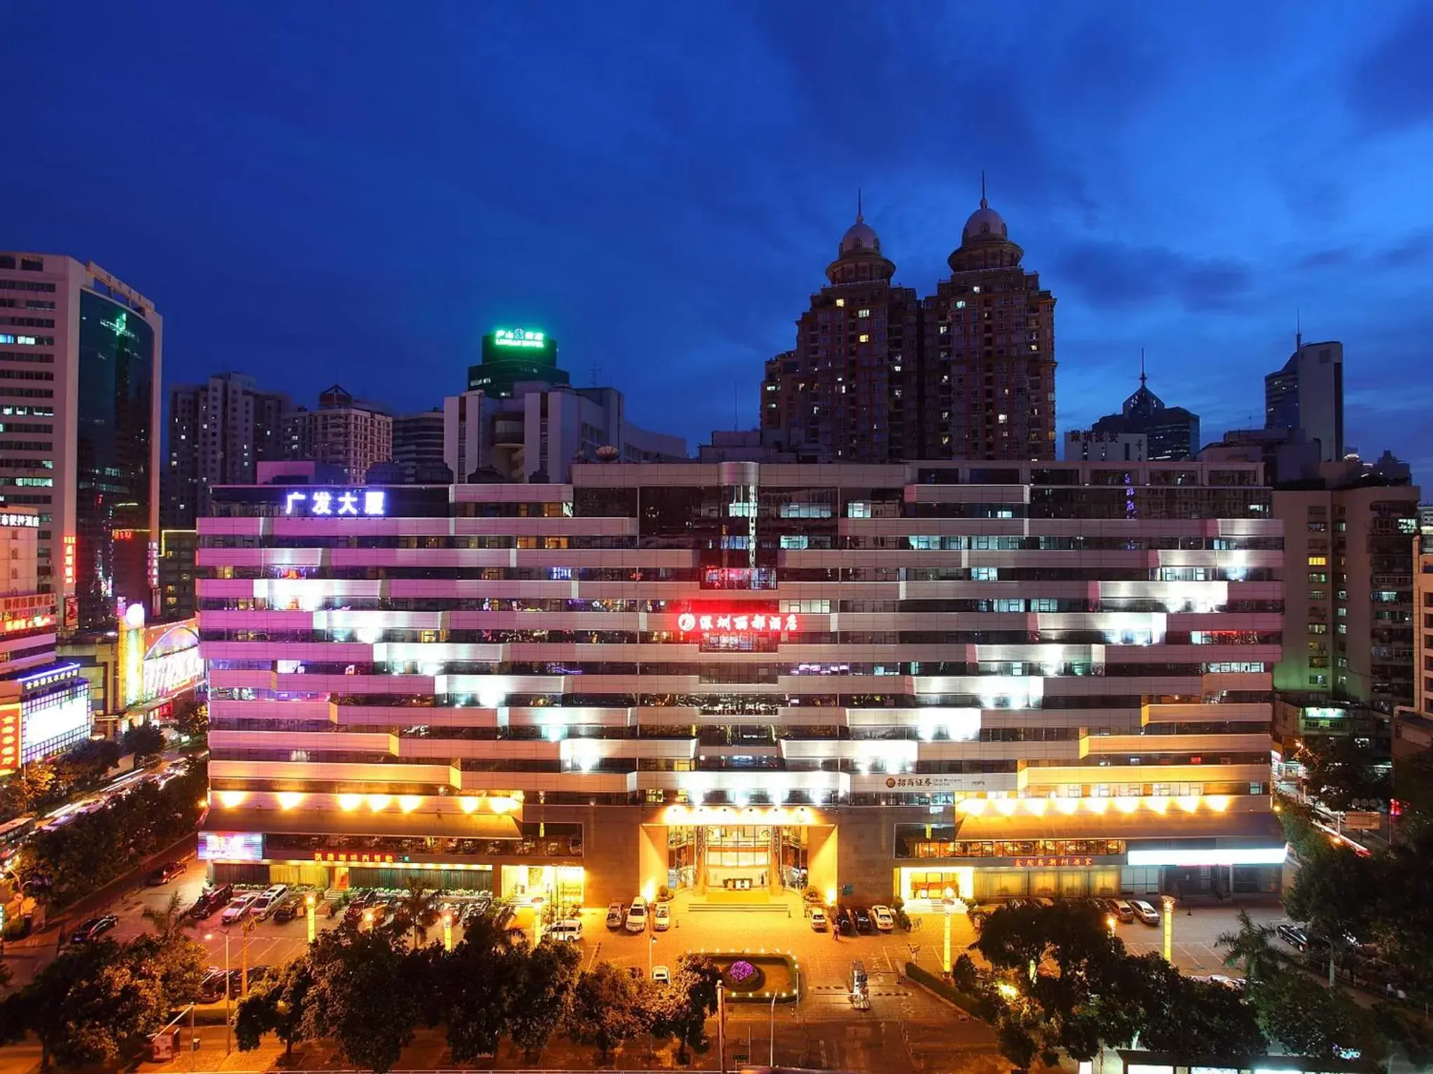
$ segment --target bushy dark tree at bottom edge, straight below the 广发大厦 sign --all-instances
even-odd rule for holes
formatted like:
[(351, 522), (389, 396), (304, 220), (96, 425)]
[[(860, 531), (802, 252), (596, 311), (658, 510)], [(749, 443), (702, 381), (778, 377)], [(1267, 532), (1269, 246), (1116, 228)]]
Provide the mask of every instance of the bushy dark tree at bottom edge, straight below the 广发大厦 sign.
[(403, 952), (387, 932), (330, 929), (311, 949), (304, 1037), (331, 1037), (355, 1067), (385, 1074), (413, 1041), (417, 1002), (394, 988)]

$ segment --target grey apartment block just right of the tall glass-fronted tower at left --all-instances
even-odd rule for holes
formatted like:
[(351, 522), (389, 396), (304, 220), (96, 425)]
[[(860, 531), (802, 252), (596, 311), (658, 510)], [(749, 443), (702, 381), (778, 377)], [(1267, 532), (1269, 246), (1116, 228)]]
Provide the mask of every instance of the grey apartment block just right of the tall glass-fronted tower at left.
[(288, 395), (259, 391), (238, 372), (172, 387), (163, 527), (193, 528), (208, 514), (212, 485), (254, 484), (257, 463), (284, 458), (284, 418), (292, 410)]

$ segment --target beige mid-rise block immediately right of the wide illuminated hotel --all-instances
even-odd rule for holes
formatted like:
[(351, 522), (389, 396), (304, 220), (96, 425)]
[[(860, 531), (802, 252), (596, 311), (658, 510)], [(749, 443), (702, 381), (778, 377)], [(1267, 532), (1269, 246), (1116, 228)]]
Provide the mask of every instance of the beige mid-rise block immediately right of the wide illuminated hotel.
[(1419, 488), (1304, 484), (1274, 490), (1288, 567), (1274, 686), (1311, 706), (1412, 706)]

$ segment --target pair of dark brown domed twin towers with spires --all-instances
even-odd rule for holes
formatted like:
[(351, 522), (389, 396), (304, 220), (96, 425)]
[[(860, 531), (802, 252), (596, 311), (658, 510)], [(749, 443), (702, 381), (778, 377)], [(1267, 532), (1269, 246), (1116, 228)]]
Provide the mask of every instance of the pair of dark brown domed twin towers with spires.
[(920, 299), (858, 200), (795, 349), (767, 362), (761, 427), (818, 461), (1053, 460), (1055, 298), (1023, 256), (982, 189)]

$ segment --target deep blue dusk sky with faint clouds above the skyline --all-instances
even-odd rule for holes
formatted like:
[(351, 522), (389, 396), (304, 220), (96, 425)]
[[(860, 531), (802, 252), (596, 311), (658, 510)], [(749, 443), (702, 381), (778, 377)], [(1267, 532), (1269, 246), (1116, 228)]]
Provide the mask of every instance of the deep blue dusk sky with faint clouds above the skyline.
[(1433, 4), (102, 4), (4, 14), (0, 248), (93, 259), (165, 381), (310, 407), (464, 387), (493, 325), (685, 435), (762, 361), (864, 189), (931, 294), (980, 196), (1059, 299), (1059, 428), (1151, 387), (1262, 424), (1346, 347), (1348, 442), (1433, 471)]

